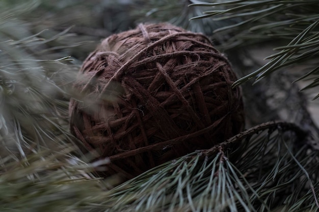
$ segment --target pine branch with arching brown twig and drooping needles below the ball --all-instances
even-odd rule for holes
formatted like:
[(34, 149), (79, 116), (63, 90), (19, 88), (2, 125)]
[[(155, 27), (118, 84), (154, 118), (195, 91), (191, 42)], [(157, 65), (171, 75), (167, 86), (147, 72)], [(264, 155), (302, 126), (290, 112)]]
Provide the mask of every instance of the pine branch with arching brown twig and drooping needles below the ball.
[(318, 153), (309, 153), (304, 136), (290, 123), (256, 126), (127, 181), (111, 190), (103, 204), (109, 205), (106, 211), (309, 209), (319, 185), (305, 185), (317, 182)]

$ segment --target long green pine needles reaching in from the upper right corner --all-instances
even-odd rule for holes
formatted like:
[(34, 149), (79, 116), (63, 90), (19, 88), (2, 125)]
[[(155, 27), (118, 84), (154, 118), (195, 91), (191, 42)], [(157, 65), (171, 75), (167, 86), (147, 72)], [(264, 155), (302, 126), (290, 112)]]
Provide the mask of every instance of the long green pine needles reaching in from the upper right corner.
[[(305, 1), (228, 1), (217, 3), (198, 3), (195, 7), (214, 7), (215, 10), (206, 11), (205, 15), (192, 19), (212, 18), (213, 20), (235, 20), (234, 24), (226, 25), (216, 29), (216, 35), (232, 35), (223, 44), (224, 48), (247, 47), (250, 44), (261, 41), (283, 40), (287, 45), (275, 48), (279, 51), (266, 59), (267, 64), (253, 73), (237, 80), (233, 86), (240, 85), (250, 79), (256, 82), (263, 77), (291, 65), (314, 63), (312, 71), (302, 74), (298, 80), (307, 76), (314, 77), (313, 82), (304, 89), (317, 86), (318, 63), (315, 62), (318, 53), (319, 15), (315, 8), (318, 2), (314, 0)], [(318, 97), (318, 96), (317, 96)], [(315, 98), (317, 98), (315, 97)]]

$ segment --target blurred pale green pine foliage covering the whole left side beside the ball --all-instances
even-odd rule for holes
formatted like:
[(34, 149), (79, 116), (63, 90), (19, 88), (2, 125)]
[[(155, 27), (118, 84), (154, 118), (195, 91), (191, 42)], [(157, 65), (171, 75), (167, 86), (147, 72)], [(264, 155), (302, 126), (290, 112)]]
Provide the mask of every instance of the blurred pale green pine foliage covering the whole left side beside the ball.
[(45, 39), (23, 20), (39, 3), (0, 2), (0, 211), (101, 211), (105, 188), (91, 172), (108, 161), (87, 164), (68, 132), (78, 69), (50, 59), (67, 31)]

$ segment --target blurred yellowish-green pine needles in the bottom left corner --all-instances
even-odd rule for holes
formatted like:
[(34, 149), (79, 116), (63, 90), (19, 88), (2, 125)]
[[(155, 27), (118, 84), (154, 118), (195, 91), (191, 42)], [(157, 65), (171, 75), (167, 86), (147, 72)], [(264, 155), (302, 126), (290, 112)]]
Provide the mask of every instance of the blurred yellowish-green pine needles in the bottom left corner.
[(71, 146), (29, 154), (0, 166), (1, 211), (101, 211), (105, 192)]

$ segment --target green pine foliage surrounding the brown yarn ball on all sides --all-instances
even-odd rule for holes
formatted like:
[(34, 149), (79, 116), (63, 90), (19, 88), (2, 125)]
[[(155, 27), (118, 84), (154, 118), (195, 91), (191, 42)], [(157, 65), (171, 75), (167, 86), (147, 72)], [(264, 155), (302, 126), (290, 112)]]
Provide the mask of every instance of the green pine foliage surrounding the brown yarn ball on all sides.
[(118, 179), (94, 175), (108, 160), (88, 163), (93, 156), (78, 150), (67, 117), (69, 98), (81, 98), (72, 83), (82, 60), (101, 38), (146, 20), (205, 33), (227, 52), (278, 40), (269, 62), (234, 85), (306, 63), (296, 80), (316, 87), (318, 7), (317, 0), (0, 1), (0, 211), (318, 211), (315, 128), (257, 125), (115, 187)]

